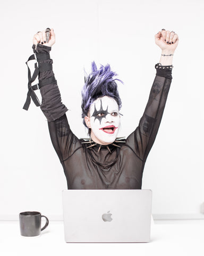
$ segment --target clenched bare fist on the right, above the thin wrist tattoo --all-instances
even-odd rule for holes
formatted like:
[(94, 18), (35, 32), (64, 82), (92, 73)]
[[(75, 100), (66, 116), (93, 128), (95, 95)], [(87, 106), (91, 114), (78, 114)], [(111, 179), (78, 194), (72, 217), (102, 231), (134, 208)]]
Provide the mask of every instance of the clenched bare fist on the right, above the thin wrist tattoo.
[(162, 51), (174, 53), (179, 44), (179, 36), (174, 31), (162, 30), (155, 35), (155, 43)]

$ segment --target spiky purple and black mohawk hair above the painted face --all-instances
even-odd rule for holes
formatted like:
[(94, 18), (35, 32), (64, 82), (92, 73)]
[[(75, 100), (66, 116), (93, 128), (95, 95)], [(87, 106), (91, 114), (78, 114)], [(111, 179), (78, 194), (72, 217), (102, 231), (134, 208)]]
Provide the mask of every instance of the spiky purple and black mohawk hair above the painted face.
[(91, 63), (92, 72), (89, 76), (84, 77), (85, 84), (81, 91), (82, 94), (82, 118), (83, 124), (87, 127), (86, 122), (84, 121), (84, 117), (87, 116), (89, 107), (91, 104), (98, 98), (108, 96), (113, 98), (121, 109), (121, 98), (119, 96), (117, 90), (117, 84), (115, 80), (120, 81), (120, 79), (114, 79), (117, 74), (111, 71), (111, 67), (109, 64), (106, 66), (100, 65), (100, 68), (97, 69), (96, 63)]

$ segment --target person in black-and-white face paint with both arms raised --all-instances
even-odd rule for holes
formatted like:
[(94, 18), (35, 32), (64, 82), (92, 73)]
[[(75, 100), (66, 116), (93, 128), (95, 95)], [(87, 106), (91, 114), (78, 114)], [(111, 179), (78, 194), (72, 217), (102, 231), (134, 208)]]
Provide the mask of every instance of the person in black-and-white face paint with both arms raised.
[[(142, 174), (149, 151), (155, 141), (163, 116), (172, 81), (172, 60), (179, 43), (174, 31), (162, 29), (155, 35), (162, 50), (160, 62), (155, 65), (156, 77), (151, 87), (145, 111), (138, 127), (128, 138), (117, 138), (120, 126), (121, 99), (118, 94), (116, 73), (109, 65), (97, 68), (86, 77), (82, 89), (82, 118), (90, 138), (78, 139), (70, 130), (66, 118), (67, 108), (52, 70), (49, 52), (55, 43), (50, 30), (49, 41), (45, 31), (33, 37), (33, 51), (37, 58), (35, 74), (29, 75), (30, 97), (40, 105), (34, 90), (40, 89), (41, 110), (48, 121), (53, 146), (64, 169), (68, 189), (141, 189)], [(30, 57), (33, 59), (35, 57)], [(31, 86), (35, 77), (38, 85)], [(120, 81), (121, 82), (121, 81)]]

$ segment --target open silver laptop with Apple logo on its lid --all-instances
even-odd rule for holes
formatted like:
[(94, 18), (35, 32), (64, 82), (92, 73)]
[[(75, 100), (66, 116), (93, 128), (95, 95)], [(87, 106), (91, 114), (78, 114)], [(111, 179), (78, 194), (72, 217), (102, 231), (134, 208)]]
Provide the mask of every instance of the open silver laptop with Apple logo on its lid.
[(152, 191), (64, 190), (67, 243), (150, 241)]

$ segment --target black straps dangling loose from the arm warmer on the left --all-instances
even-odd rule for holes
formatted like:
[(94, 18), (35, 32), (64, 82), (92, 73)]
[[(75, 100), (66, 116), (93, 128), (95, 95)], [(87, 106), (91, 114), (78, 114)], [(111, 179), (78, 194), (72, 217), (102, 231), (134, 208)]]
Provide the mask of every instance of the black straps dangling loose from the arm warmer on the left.
[[(30, 73), (30, 68), (28, 66), (28, 61), (30, 60), (35, 60), (35, 54), (32, 54), (29, 59), (27, 60), (27, 62), (25, 62), (25, 64), (27, 65), (28, 67), (28, 93), (27, 93), (27, 99), (24, 103), (24, 106), (23, 106), (23, 109), (25, 110), (28, 110), (29, 106), (30, 106), (30, 101), (31, 99), (33, 100), (33, 102), (35, 103), (35, 105), (37, 107), (40, 106), (40, 101), (36, 95), (36, 93), (34, 92), (34, 90), (37, 90), (37, 89), (34, 89), (31, 84), (33, 81), (35, 81), (35, 79), (37, 78), (38, 74), (39, 74), (39, 69), (38, 69), (38, 66), (37, 66), (37, 62), (35, 63), (35, 71), (31, 77), (31, 73)], [(37, 85), (34, 85), (34, 86), (37, 86)], [(38, 86), (37, 86), (38, 87)]]

